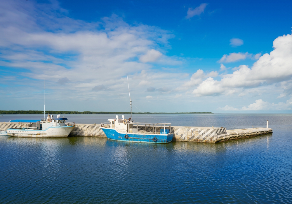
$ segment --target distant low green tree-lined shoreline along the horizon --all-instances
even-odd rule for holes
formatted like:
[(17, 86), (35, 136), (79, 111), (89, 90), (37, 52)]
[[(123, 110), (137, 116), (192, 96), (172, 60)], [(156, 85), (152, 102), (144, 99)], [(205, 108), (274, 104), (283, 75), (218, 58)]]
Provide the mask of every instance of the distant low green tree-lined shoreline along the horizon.
[[(48, 110), (46, 113), (50, 114), (130, 114), (131, 112), (94, 112), (94, 111), (55, 111)], [(142, 114), (144, 112), (132, 112), (133, 114)], [(213, 112), (145, 112), (147, 114), (213, 114)], [(0, 115), (13, 115), (13, 114), (44, 114), (44, 111), (41, 110), (0, 110)]]

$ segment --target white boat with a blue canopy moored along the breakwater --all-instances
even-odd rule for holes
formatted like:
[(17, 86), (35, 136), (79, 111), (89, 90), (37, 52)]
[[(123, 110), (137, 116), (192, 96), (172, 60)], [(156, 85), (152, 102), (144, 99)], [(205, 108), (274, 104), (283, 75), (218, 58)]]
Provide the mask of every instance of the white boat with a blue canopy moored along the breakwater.
[(13, 137), (32, 137), (32, 138), (60, 138), (68, 137), (75, 127), (75, 122), (66, 122), (67, 118), (53, 118), (48, 115), (41, 120), (11, 120), (10, 123), (17, 122), (17, 128), (7, 129), (8, 136)]

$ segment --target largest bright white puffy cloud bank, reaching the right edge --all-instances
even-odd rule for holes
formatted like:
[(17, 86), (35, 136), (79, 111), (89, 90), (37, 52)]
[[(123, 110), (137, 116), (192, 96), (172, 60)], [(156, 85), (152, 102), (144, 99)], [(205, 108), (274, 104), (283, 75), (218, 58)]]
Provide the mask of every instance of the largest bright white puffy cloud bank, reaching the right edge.
[[(208, 78), (202, 81), (193, 93), (196, 96), (226, 94), (230, 91), (236, 93), (238, 88), (253, 88), (275, 82), (284, 84), (285, 81), (291, 81), (292, 36), (280, 36), (274, 40), (273, 45), (274, 50), (261, 56), (251, 68), (241, 65), (232, 74), (222, 75), (220, 81)], [(290, 88), (287, 91), (291, 93)]]

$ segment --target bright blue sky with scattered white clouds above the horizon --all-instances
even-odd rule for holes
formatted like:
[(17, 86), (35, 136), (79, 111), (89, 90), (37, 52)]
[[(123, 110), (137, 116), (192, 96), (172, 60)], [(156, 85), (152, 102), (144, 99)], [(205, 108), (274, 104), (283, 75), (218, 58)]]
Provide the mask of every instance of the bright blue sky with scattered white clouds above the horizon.
[(291, 1), (0, 4), (1, 110), (291, 112)]

